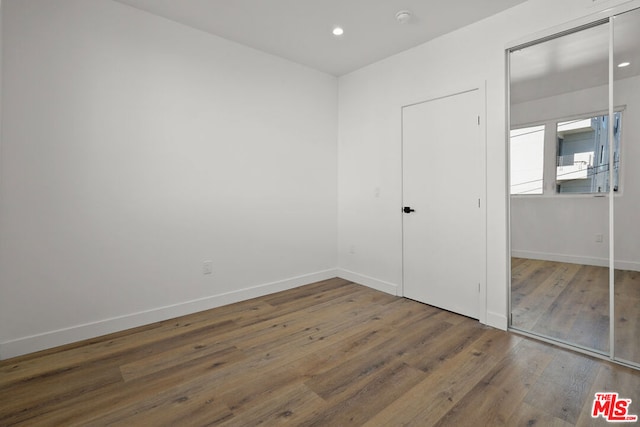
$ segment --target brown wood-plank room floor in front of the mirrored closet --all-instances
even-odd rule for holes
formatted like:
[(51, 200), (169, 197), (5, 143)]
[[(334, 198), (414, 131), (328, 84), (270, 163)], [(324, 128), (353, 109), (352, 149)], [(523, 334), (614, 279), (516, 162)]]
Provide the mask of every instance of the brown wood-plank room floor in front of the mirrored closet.
[(341, 279), (0, 362), (0, 425), (574, 426), (640, 372)]

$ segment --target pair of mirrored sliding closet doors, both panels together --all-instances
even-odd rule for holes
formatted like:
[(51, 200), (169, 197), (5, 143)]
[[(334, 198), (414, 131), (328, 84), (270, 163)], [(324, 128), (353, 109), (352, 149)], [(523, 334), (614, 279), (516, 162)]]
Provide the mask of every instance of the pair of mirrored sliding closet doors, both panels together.
[(640, 363), (639, 15), (508, 51), (510, 326), (627, 363)]

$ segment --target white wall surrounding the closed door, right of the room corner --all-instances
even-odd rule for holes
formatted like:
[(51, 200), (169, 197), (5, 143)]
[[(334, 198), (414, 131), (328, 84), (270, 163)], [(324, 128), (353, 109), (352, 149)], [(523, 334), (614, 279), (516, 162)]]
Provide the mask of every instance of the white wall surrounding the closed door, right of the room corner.
[[(620, 3), (603, 1), (595, 7)], [(595, 7), (585, 0), (529, 0), (340, 78), (338, 255), (342, 274), (400, 289), (400, 108), (486, 82), (486, 321), (507, 326), (504, 51), (514, 40), (593, 14)]]

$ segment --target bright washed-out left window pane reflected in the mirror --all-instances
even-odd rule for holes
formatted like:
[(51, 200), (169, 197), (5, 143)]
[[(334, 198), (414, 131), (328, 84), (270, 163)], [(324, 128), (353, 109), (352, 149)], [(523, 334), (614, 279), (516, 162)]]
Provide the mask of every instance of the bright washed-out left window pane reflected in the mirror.
[(542, 194), (544, 125), (511, 130), (511, 194)]

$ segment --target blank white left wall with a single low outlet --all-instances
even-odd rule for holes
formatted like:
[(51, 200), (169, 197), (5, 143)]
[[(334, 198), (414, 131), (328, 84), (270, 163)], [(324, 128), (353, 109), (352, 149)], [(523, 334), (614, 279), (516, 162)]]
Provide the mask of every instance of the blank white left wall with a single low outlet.
[(0, 357), (336, 275), (336, 78), (110, 0), (2, 8)]

